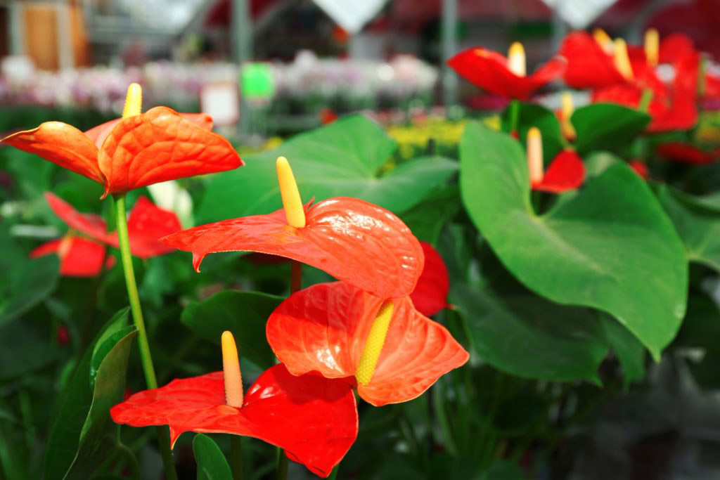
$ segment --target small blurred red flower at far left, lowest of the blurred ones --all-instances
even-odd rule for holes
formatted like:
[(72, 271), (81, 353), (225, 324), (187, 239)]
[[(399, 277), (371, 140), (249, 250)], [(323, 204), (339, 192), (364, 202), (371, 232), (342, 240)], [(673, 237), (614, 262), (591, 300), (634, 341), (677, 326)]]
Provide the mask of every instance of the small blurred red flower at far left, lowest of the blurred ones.
[(97, 276), (102, 272), (103, 262), (106, 269), (115, 264), (114, 257), (106, 260), (104, 245), (75, 235), (66, 235), (40, 245), (30, 252), (30, 258), (52, 254), (60, 258), (62, 276)]

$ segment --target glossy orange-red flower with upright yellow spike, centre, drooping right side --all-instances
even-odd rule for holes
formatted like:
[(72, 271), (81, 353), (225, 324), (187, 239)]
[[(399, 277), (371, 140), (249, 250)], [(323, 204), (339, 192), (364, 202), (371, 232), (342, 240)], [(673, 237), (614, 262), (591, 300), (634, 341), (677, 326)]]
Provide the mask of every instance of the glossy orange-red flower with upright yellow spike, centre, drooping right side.
[(208, 253), (251, 251), (307, 263), (382, 298), (415, 289), (423, 271), (423, 249), (399, 218), (358, 199), (303, 207), (284, 157), (278, 159), (278, 178), (284, 212), (202, 225), (161, 242), (192, 252), (197, 271)]

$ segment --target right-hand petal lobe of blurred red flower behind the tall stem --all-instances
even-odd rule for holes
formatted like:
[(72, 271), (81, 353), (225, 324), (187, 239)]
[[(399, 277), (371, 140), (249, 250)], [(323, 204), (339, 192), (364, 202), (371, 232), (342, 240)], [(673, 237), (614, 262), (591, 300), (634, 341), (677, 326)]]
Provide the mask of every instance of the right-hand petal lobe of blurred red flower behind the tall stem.
[[(158, 240), (171, 233), (182, 230), (180, 220), (174, 212), (168, 212), (153, 204), (145, 196), (140, 196), (130, 210), (127, 218), (127, 235), (130, 237), (130, 251), (140, 258), (165, 255), (174, 250)], [(120, 248), (117, 232), (107, 236), (107, 243)]]

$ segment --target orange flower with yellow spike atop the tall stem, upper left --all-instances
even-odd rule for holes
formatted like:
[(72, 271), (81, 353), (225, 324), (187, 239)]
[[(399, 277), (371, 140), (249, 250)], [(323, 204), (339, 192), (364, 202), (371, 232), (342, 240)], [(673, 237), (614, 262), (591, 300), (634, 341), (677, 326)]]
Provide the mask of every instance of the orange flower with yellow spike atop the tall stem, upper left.
[(136, 104), (138, 114), (87, 132), (62, 122), (45, 122), (0, 142), (102, 184), (103, 197), (243, 166), (230, 142), (208, 130), (210, 117), (184, 117), (166, 107), (140, 114), (139, 91), (140, 86), (131, 85), (126, 102)]

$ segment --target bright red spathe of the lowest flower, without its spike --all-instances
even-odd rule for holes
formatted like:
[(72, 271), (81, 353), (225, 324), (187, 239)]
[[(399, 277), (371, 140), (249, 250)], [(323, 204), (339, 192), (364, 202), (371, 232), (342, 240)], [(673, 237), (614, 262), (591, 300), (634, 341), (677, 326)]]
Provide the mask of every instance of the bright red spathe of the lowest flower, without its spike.
[(184, 432), (258, 438), (322, 477), (342, 460), (358, 431), (355, 397), (347, 384), (292, 376), (283, 365), (265, 371), (239, 409), (225, 404), (222, 372), (215, 372), (140, 391), (112, 407), (110, 415), (133, 427), (169, 425), (173, 444)]

